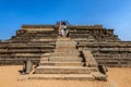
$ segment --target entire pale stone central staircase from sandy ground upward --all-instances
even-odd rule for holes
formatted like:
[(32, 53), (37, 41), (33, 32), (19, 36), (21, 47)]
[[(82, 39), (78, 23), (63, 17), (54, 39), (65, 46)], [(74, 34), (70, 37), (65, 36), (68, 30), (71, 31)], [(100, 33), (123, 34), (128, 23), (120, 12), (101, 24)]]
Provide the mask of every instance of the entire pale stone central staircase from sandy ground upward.
[[(97, 64), (91, 65), (86, 54), (76, 49), (76, 42), (67, 37), (59, 37), (56, 42), (56, 50), (52, 53), (44, 53), (39, 65), (28, 79), (90, 79), (104, 78), (105, 75), (98, 72)], [(84, 52), (83, 52), (84, 53)], [(94, 62), (93, 55), (90, 58)], [(99, 76), (100, 75), (100, 76)]]

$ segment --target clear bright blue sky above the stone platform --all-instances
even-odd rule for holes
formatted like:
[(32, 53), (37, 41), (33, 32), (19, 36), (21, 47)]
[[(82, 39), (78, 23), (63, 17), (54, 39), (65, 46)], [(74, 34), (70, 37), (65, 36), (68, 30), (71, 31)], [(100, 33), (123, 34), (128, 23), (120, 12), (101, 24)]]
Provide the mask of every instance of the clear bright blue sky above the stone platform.
[(103, 24), (122, 40), (131, 40), (131, 0), (0, 0), (0, 39), (23, 24)]

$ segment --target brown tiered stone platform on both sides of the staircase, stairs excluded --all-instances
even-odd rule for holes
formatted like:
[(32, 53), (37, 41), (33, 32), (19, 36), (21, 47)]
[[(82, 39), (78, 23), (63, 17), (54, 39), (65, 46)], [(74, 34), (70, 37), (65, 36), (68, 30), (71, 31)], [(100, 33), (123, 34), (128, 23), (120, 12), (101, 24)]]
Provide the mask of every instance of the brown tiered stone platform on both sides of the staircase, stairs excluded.
[[(0, 42), (0, 64), (22, 64), (25, 58), (36, 63), (45, 53), (55, 52), (57, 37), (56, 25), (23, 25), (15, 36)], [(121, 41), (114, 29), (68, 25), (67, 37), (79, 51), (91, 52), (98, 64), (131, 66), (131, 41)]]

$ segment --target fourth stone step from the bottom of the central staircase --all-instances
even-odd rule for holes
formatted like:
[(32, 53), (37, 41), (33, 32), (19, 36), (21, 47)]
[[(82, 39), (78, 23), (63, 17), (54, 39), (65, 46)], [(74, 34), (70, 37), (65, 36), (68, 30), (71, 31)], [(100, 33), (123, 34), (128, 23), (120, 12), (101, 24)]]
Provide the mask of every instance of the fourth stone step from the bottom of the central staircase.
[(79, 57), (50, 57), (49, 61), (58, 61), (58, 62), (81, 62), (82, 58)]

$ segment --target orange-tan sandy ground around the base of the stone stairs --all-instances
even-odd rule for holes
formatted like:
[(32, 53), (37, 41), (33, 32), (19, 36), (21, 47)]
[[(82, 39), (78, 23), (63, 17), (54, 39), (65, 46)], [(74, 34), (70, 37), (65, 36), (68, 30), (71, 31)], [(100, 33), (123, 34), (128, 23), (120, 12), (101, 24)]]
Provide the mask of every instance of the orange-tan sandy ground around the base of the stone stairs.
[(131, 87), (131, 67), (109, 67), (108, 82), (17, 80), (22, 66), (0, 66), (0, 87)]

